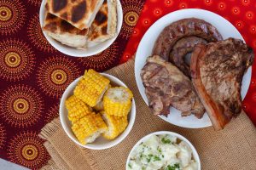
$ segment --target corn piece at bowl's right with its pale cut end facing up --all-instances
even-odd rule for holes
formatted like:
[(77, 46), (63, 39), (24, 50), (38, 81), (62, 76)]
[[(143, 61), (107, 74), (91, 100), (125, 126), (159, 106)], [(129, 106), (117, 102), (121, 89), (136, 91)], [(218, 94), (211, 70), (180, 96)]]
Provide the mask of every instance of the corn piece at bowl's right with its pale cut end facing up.
[(129, 88), (109, 88), (103, 97), (104, 111), (108, 115), (127, 116), (131, 110), (132, 96)]

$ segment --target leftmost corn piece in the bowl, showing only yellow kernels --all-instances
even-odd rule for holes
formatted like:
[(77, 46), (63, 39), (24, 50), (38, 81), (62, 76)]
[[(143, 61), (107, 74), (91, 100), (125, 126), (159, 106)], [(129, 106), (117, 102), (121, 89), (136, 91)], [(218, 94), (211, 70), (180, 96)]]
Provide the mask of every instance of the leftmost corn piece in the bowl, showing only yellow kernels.
[(92, 112), (90, 106), (74, 95), (66, 100), (65, 105), (68, 111), (67, 117), (72, 123), (79, 121), (82, 117)]

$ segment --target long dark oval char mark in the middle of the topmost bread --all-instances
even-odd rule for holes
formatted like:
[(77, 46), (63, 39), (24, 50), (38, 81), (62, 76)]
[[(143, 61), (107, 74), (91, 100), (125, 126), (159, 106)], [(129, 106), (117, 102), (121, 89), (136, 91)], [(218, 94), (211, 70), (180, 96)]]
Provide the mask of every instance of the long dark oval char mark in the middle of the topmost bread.
[(77, 6), (73, 7), (72, 9), (72, 21), (74, 23), (78, 22), (79, 20), (83, 19), (86, 9), (86, 2), (83, 1), (79, 3)]

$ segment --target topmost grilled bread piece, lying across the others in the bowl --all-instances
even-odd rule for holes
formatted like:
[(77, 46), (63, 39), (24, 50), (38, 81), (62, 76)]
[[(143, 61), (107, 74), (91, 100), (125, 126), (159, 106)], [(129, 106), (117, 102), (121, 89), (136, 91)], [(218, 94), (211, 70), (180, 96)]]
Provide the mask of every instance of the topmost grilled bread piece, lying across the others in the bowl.
[(67, 20), (73, 26), (84, 30), (89, 28), (104, 0), (47, 0), (45, 8)]

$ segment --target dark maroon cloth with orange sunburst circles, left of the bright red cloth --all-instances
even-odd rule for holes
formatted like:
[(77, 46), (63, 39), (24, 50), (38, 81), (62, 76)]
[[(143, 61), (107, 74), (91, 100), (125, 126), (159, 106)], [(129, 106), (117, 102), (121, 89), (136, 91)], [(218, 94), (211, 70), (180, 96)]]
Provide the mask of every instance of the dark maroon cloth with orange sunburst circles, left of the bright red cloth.
[(49, 160), (38, 133), (58, 116), (61, 94), (85, 69), (106, 71), (119, 64), (143, 2), (121, 1), (122, 31), (107, 50), (73, 58), (44, 38), (38, 21), (41, 0), (0, 0), (1, 158), (31, 169)]

